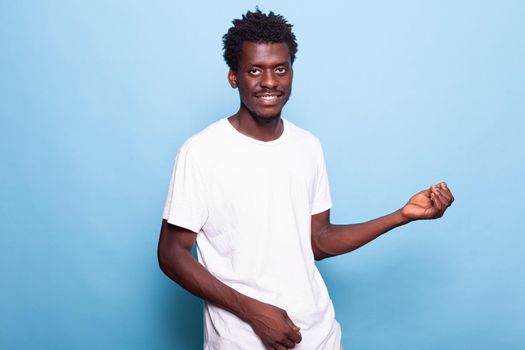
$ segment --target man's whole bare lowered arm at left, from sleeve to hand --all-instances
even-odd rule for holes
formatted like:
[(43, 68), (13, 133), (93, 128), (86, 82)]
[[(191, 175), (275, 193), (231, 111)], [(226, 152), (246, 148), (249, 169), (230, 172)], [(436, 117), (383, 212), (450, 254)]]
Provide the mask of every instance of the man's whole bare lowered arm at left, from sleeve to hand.
[(269, 349), (288, 349), (299, 343), (299, 327), (285, 310), (237, 292), (195, 260), (191, 250), (196, 237), (195, 232), (162, 220), (157, 250), (161, 270), (190, 293), (250, 324)]

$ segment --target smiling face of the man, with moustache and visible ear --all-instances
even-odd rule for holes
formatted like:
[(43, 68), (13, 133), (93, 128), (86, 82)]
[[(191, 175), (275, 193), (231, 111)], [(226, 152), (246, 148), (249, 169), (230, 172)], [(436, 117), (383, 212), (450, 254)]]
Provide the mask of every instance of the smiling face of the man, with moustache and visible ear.
[(279, 118), (292, 91), (292, 63), (286, 43), (245, 41), (237, 72), (228, 73), (233, 88), (239, 88), (241, 110), (270, 120)]

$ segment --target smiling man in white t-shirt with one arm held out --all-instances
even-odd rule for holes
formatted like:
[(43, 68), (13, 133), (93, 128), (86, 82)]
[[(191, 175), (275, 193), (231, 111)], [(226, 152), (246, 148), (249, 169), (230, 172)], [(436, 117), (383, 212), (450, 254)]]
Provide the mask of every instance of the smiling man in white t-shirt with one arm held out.
[[(158, 247), (162, 271), (205, 300), (205, 349), (340, 349), (340, 327), (315, 260), (399, 225), (441, 217), (445, 183), (401, 209), (352, 225), (332, 205), (317, 138), (281, 118), (297, 52), (280, 16), (248, 12), (223, 37), (240, 108), (177, 153)], [(197, 262), (191, 255), (197, 242)]]

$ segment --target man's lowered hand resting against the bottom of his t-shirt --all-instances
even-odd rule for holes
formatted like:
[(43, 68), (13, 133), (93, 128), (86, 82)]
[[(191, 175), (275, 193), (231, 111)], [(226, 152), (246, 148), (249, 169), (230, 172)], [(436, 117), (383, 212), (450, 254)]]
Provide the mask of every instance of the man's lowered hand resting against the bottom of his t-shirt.
[(267, 349), (293, 349), (301, 341), (300, 328), (277, 306), (254, 300), (248, 307), (248, 323)]

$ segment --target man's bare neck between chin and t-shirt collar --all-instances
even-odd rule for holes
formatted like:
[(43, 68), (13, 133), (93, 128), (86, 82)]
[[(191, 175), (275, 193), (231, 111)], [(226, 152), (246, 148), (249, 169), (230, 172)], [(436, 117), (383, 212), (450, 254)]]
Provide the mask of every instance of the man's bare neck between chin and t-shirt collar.
[(264, 119), (264, 117), (254, 117), (250, 113), (243, 113), (242, 110), (239, 110), (228, 120), (238, 132), (259, 141), (274, 141), (281, 136), (284, 130), (280, 116)]

